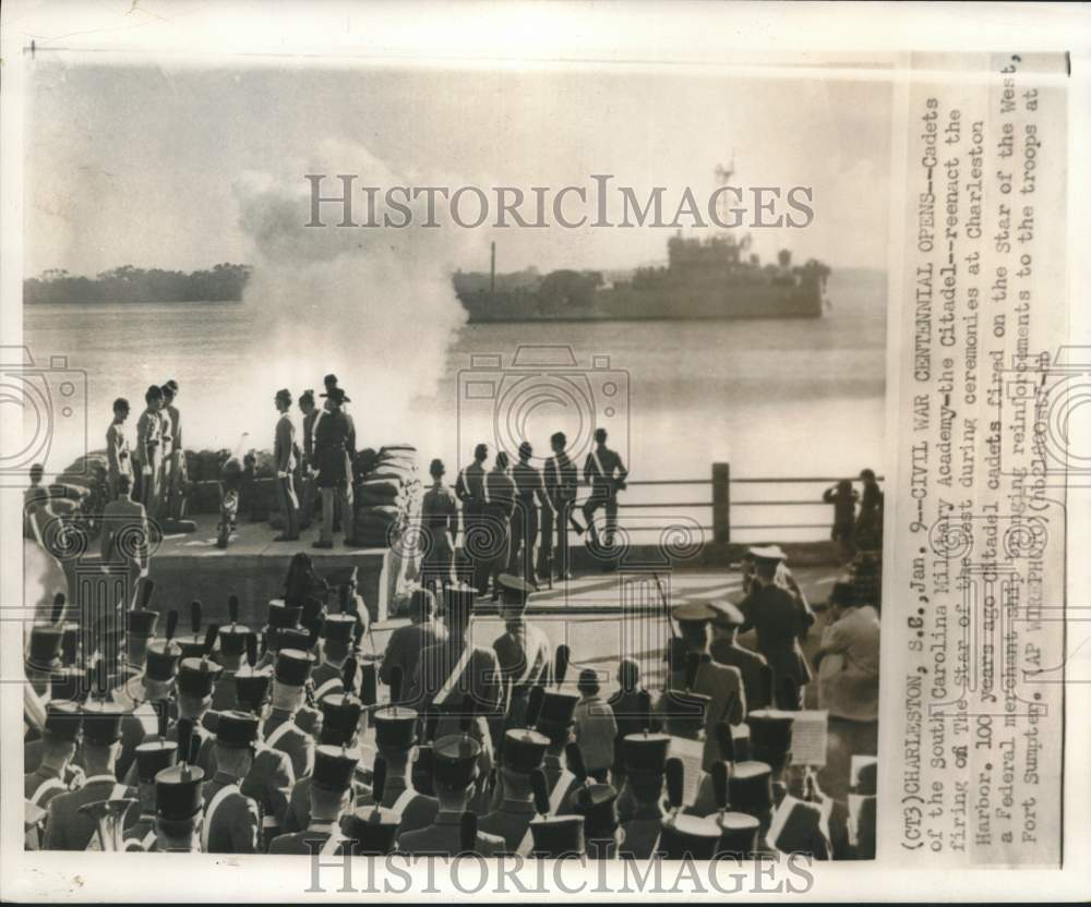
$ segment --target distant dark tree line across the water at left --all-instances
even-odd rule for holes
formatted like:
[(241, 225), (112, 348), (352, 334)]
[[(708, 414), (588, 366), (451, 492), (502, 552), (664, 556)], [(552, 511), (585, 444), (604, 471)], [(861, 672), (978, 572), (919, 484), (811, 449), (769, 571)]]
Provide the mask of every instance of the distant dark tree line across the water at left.
[(95, 277), (60, 268), (23, 281), (23, 302), (223, 302), (242, 299), (252, 268), (225, 262), (189, 274), (124, 265)]

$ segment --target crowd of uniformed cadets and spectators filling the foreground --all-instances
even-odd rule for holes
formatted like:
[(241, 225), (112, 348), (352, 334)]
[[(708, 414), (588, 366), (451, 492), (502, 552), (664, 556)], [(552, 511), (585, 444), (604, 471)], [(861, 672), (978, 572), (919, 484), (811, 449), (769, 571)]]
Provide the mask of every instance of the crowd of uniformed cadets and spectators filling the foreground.
[[(260, 632), (233, 597), (226, 625), (203, 627), (194, 603), (189, 632), (175, 612), (160, 627), (146, 581), (120, 627), (89, 636), (58, 601), (26, 655), (26, 846), (870, 857), (874, 758), (853, 759), (847, 802), (790, 762), (813, 618), (778, 581), (780, 552), (754, 554), (740, 607), (673, 609), (664, 690), (623, 660), (610, 700), (594, 669), (572, 682), (567, 646), (526, 619), (533, 589), (511, 575), (492, 646), (470, 639), (473, 590), (449, 585), (439, 602), (415, 592), (383, 657), (355, 577), (328, 607), (289, 582)], [(735, 641), (751, 627), (758, 652)], [(81, 645), (89, 672), (73, 666)], [(696, 741), (696, 777), (679, 740)]]

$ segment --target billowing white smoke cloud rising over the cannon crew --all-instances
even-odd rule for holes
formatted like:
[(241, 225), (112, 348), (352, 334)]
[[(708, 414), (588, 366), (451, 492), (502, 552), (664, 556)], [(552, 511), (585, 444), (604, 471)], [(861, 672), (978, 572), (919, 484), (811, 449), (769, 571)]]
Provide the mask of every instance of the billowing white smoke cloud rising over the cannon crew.
[(247, 173), (235, 185), (240, 226), (254, 250), (244, 299), (257, 313), (260, 354), (242, 389), (263, 408), (259, 438), (269, 434), (278, 388), (297, 398), (305, 388), (319, 392), (333, 372), (352, 400), (360, 447), (419, 442), (423, 431), (409, 424), (410, 403), (435, 394), (447, 346), (466, 321), (451, 275), (472, 259), (472, 231), (421, 227), (423, 198), (403, 229), (335, 227), (337, 205), (324, 207), (324, 228), (304, 227), (305, 173), (329, 174), (327, 195), (339, 192), (335, 174), (359, 174), (358, 221), (365, 201), (359, 186), (380, 186), (382, 194), (391, 185), (443, 184), (437, 174), (401, 174), (355, 144), (323, 142), (314, 157), (276, 176)]

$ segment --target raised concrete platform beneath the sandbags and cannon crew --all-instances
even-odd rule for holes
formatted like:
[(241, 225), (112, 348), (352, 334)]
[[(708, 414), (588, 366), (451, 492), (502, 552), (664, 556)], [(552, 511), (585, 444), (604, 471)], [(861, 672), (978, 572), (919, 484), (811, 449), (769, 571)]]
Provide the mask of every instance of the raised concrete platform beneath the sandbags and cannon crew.
[(191, 601), (201, 601), (207, 622), (223, 622), (232, 594), (239, 596), (242, 622), (261, 627), (269, 598), (284, 594), (288, 564), (297, 552), (309, 554), (322, 577), (357, 567), (359, 592), (372, 620), (384, 620), (388, 615), (401, 569), (401, 558), (388, 548), (346, 547), (337, 535), (332, 549), (321, 551), (311, 547), (317, 540), (313, 528), (298, 542), (274, 542), (275, 531), (262, 522), (239, 523), (228, 547), (220, 549), (216, 547), (217, 518), (197, 516), (194, 522), (196, 532), (163, 539), (149, 568), (156, 584), (153, 607), (159, 612), (178, 608), (183, 628)]

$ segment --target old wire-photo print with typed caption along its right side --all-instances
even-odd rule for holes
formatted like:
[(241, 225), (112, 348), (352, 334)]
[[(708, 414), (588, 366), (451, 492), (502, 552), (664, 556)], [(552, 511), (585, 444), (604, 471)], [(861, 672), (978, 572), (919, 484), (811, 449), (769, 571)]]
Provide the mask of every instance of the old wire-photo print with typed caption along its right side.
[[(133, 2), (128, 52), (19, 36), (5, 854), (293, 900), (421, 897), (433, 861), (536, 899), (565, 866), (658, 898), (1020, 839), (1059, 868), (1041, 573), (1077, 504), (1000, 436), (1083, 418), (1006, 409), (1076, 374), (1030, 309), (1066, 58), (551, 56), (591, 7), (517, 7), (446, 8), (465, 53), (128, 34), (244, 4)], [(140, 898), (72, 875), (43, 896)]]

